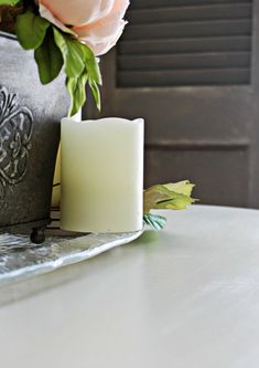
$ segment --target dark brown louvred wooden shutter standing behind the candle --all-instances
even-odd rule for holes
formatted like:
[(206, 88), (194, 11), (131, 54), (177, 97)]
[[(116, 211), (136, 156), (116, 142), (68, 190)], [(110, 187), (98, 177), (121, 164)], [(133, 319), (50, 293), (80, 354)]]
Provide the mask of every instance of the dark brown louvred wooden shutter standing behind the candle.
[[(145, 187), (259, 208), (259, 0), (131, 0), (101, 57), (101, 116), (145, 119)], [(89, 95), (89, 94), (88, 94)], [(100, 117), (91, 99), (87, 118)]]

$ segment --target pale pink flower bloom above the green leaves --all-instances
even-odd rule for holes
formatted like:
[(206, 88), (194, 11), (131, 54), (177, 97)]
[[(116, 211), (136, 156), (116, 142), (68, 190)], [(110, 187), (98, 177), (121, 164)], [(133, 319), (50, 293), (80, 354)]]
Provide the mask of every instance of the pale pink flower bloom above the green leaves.
[(43, 18), (102, 55), (123, 31), (129, 0), (40, 0), (39, 4)]

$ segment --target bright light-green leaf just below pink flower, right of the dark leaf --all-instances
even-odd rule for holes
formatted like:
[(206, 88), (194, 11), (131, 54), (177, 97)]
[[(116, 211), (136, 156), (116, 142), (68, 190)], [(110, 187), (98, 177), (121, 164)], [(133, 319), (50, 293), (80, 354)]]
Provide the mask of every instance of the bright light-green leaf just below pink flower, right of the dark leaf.
[(66, 75), (68, 77), (79, 76), (85, 70), (85, 57), (80, 43), (73, 40), (71, 35), (61, 33), (55, 27), (53, 30), (55, 43), (63, 55)]

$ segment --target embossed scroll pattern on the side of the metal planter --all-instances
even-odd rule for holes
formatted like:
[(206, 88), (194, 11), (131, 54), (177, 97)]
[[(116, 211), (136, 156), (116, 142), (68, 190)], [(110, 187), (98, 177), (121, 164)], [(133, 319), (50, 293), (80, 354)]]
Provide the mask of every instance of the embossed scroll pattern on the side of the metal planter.
[(32, 113), (18, 95), (0, 87), (0, 200), (7, 187), (11, 190), (26, 174), (32, 123)]

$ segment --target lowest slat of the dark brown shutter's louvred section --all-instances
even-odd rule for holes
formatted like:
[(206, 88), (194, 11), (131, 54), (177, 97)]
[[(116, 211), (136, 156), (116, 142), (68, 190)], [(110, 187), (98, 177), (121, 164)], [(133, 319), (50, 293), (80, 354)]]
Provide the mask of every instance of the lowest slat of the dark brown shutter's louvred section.
[(119, 72), (121, 87), (166, 87), (192, 85), (246, 84), (250, 77), (249, 69)]

